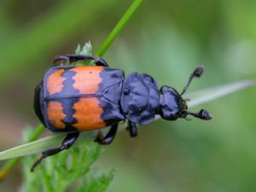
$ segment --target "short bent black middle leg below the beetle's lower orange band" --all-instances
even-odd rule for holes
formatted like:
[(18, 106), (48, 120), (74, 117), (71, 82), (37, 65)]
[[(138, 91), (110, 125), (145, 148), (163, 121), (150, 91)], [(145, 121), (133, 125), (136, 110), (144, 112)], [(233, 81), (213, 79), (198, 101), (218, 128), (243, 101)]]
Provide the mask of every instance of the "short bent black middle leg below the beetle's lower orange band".
[(118, 126), (119, 126), (118, 124), (112, 125), (105, 137), (103, 137), (102, 131), (99, 131), (99, 133), (98, 133), (98, 135), (95, 139), (95, 142), (99, 143), (99, 144), (102, 144), (102, 145), (108, 145), (108, 144), (112, 143), (113, 138), (116, 135)]

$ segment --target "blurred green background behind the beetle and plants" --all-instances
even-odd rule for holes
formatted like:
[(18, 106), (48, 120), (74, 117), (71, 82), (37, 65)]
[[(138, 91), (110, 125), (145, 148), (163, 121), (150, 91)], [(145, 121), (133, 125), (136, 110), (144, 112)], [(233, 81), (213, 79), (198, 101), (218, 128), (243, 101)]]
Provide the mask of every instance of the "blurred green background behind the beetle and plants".
[[(78, 44), (102, 44), (132, 1), (2, 0), (0, 7), (0, 150), (37, 125), (33, 89), (55, 55)], [(256, 1), (144, 1), (104, 58), (125, 73), (149, 73), (182, 90), (199, 64), (206, 73), (190, 87), (256, 78)], [(252, 191), (256, 189), (254, 87), (193, 108), (205, 122), (155, 121), (137, 138), (119, 133), (96, 166), (116, 167), (110, 191)], [(3, 165), (3, 162), (0, 162)], [(20, 167), (0, 191), (16, 191)]]

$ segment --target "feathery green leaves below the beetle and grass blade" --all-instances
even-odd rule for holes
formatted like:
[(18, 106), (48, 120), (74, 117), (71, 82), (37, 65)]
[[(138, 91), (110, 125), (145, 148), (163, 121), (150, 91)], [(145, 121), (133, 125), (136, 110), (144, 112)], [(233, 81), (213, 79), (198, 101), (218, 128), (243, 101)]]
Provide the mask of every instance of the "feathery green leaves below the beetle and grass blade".
[[(23, 131), (29, 137), (33, 130)], [(114, 172), (103, 174), (91, 166), (98, 159), (102, 147), (92, 141), (74, 144), (73, 148), (51, 156), (30, 172), (36, 155), (23, 160), (24, 180), (20, 192), (64, 192), (71, 191), (107, 191), (113, 181)]]

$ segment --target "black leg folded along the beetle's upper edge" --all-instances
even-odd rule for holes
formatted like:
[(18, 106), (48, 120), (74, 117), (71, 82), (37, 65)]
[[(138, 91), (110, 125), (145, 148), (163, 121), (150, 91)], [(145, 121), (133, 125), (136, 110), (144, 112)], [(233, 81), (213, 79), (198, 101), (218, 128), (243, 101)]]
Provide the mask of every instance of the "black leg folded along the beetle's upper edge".
[(54, 64), (59, 61), (67, 61), (73, 63), (75, 61), (95, 61), (96, 66), (108, 67), (107, 61), (102, 57), (92, 55), (58, 55), (54, 59)]

